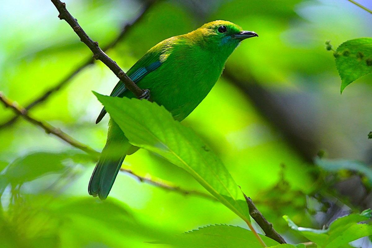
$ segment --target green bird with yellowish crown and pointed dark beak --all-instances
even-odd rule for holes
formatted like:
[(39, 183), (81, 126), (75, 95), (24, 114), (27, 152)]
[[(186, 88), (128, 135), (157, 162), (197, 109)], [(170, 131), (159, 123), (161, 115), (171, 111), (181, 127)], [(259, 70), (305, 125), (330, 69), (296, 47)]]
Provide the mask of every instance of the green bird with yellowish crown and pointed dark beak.
[[(127, 75), (142, 89), (151, 92), (151, 100), (163, 105), (175, 120), (185, 119), (211, 91), (221, 76), (227, 58), (241, 41), (257, 36), (238, 25), (217, 20), (185, 35), (166, 39), (151, 48), (129, 69)], [(148, 93), (148, 91), (146, 91)], [(112, 97), (135, 97), (119, 81)], [(144, 98), (147, 98), (144, 96)], [(96, 123), (102, 120), (102, 109)], [(110, 119), (107, 142), (94, 168), (88, 191), (106, 199), (126, 155), (138, 150), (119, 126)]]

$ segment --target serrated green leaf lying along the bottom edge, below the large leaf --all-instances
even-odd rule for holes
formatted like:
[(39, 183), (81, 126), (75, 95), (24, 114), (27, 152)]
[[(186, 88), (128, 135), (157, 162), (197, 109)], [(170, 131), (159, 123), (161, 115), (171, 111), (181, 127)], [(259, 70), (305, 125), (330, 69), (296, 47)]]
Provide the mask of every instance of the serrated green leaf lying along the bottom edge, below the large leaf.
[[(267, 246), (279, 243), (260, 235)], [(262, 248), (251, 231), (239, 226), (211, 225), (169, 237), (167, 240), (149, 242), (152, 244), (169, 244), (177, 248), (219, 247), (219, 248)], [(291, 246), (294, 247), (294, 246)]]

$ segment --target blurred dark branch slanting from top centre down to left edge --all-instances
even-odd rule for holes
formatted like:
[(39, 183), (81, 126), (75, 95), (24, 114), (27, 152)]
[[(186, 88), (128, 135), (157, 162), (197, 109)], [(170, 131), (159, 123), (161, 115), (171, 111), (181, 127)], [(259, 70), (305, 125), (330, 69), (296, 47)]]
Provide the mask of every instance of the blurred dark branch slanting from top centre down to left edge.
[[(144, 6), (141, 8), (140, 12), (138, 12), (138, 14), (131, 21), (126, 22), (124, 24), (124, 26), (122, 27), (119, 35), (116, 36), (116, 38), (113, 39), (113, 41), (111, 41), (108, 45), (103, 47), (102, 51), (105, 52), (105, 51), (109, 50), (110, 48), (112, 48), (113, 46), (115, 46), (116, 44), (118, 44), (118, 42), (121, 41), (125, 37), (125, 35), (128, 33), (128, 31), (131, 30), (133, 25), (135, 23), (137, 23), (139, 20), (141, 20), (141, 18), (144, 16), (144, 13), (151, 6), (153, 6), (153, 4), (155, 2), (156, 2), (156, 0), (152, 0), (152, 1), (148, 1), (147, 3), (145, 3)], [(80, 73), (80, 71), (82, 71), (87, 66), (93, 64), (93, 62), (94, 62), (93, 57), (87, 58), (86, 61), (83, 62), (83, 64), (81, 64), (76, 70), (74, 70), (69, 75), (67, 75), (65, 78), (63, 78), (57, 85), (55, 85), (54, 87), (49, 88), (49, 90), (45, 91), (44, 94), (42, 94), (41, 96), (39, 96), (36, 99), (34, 99), (33, 101), (31, 101), (31, 103), (29, 105), (27, 105), (25, 107), (25, 109), (30, 110), (33, 107), (35, 107), (36, 105), (38, 105), (38, 104), (44, 102), (45, 100), (47, 100), (49, 98), (49, 96), (56, 93), (58, 90), (60, 90), (66, 84), (68, 84), (77, 74)], [(18, 118), (19, 118), (19, 115), (15, 115), (14, 117), (10, 118), (9, 120), (4, 121), (3, 123), (0, 124), (0, 129), (13, 125)]]

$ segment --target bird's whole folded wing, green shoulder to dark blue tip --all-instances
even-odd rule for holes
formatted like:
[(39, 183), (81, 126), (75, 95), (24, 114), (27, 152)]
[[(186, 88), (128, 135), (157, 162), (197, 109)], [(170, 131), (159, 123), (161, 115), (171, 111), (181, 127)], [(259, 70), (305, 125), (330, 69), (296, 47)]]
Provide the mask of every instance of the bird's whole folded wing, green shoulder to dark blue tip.
[[(153, 48), (151, 48), (140, 60), (138, 60), (132, 68), (126, 73), (128, 77), (137, 84), (143, 77), (152, 71), (160, 67), (164, 63), (170, 52), (170, 41), (172, 38), (160, 42)], [(123, 97), (126, 91), (125, 85), (122, 81), (116, 84), (115, 88), (112, 90), (110, 96)], [(102, 120), (103, 116), (106, 115), (105, 107), (101, 110), (96, 123)]]

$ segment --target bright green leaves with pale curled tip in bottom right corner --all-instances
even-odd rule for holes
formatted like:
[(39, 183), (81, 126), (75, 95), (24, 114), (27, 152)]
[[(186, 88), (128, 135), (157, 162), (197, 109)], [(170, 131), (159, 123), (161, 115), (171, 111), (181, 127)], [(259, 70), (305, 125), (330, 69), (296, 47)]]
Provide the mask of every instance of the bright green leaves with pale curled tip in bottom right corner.
[(283, 218), (292, 230), (314, 242), (320, 248), (351, 247), (350, 242), (365, 236), (372, 235), (372, 226), (358, 224), (371, 219), (371, 210), (365, 210), (360, 214), (351, 214), (336, 219), (328, 229), (319, 230), (313, 228), (298, 227), (288, 216)]

